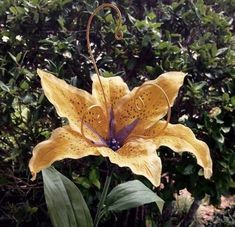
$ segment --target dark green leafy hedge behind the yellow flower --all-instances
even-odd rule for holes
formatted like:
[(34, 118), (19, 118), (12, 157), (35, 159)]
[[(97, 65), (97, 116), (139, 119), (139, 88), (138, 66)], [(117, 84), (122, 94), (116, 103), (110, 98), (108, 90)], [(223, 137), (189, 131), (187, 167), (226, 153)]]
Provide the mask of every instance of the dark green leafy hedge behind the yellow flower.
[[(79, 88), (91, 90), (85, 29), (91, 12), (104, 1), (2, 0), (0, 2), (0, 225), (51, 226), (39, 174), (30, 181), (32, 148), (60, 126), (43, 95), (36, 68), (47, 69)], [(107, 2), (107, 1), (105, 1)], [(193, 129), (210, 147), (214, 174), (205, 180), (195, 159), (162, 148), (163, 214), (152, 206), (112, 214), (115, 226), (173, 225), (174, 194), (187, 188), (195, 200), (207, 194), (218, 204), (234, 193), (235, 38), (233, 0), (115, 1), (125, 25), (114, 39), (114, 18), (104, 11), (92, 27), (97, 64), (104, 76), (120, 75), (130, 87), (162, 72), (188, 73), (173, 109), (172, 123)], [(83, 192), (92, 214), (105, 177), (102, 158), (64, 160), (56, 168)], [(132, 176), (117, 169), (113, 186)], [(146, 179), (142, 182), (151, 187)], [(190, 213), (190, 212), (189, 212)], [(118, 218), (118, 220), (116, 219)], [(121, 220), (121, 221), (120, 221)], [(133, 221), (134, 220), (134, 221)], [(114, 226), (114, 224), (113, 224)]]

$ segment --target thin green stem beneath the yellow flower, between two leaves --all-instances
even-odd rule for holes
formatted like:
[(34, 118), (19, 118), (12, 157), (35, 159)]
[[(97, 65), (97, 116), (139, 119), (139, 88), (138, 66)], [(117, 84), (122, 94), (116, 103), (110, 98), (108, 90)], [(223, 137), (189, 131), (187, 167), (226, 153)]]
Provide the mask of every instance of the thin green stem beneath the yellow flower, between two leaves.
[(105, 183), (104, 183), (104, 190), (101, 194), (100, 202), (98, 204), (98, 209), (97, 209), (97, 212), (96, 212), (96, 215), (95, 215), (94, 227), (98, 227), (100, 218), (103, 216), (103, 214), (101, 215), (102, 208), (104, 206), (104, 202), (105, 202), (106, 196), (108, 194), (111, 178), (112, 178), (112, 171), (109, 172), (109, 174), (106, 177)]

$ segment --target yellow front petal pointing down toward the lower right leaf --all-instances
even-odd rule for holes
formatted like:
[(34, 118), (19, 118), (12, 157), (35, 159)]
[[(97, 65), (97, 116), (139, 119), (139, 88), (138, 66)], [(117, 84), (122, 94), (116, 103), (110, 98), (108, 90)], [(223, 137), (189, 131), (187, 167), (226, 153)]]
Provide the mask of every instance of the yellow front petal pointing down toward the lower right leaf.
[(133, 173), (145, 176), (158, 187), (161, 178), (161, 159), (156, 153), (156, 146), (147, 140), (138, 139), (126, 143), (117, 152), (99, 149), (102, 156), (120, 167), (129, 167)]

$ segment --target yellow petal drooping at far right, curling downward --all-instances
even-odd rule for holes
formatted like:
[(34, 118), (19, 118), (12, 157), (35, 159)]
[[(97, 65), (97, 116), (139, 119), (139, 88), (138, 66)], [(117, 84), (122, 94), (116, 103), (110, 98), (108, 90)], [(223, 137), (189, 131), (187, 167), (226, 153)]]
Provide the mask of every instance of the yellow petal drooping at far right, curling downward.
[(175, 152), (191, 152), (196, 156), (197, 163), (203, 167), (205, 178), (210, 178), (212, 160), (207, 144), (196, 139), (192, 130), (181, 124), (168, 124), (167, 128), (159, 134), (165, 123), (164, 121), (157, 123), (146, 130), (145, 135), (151, 136), (157, 147), (167, 146)]

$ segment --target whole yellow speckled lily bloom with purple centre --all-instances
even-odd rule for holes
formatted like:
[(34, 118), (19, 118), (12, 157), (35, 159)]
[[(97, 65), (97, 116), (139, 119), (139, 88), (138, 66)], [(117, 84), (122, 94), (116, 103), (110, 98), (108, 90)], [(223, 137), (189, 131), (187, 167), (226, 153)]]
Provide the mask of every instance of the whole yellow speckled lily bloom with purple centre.
[(34, 178), (55, 161), (102, 155), (159, 186), (161, 160), (156, 149), (160, 146), (191, 152), (205, 177), (212, 175), (208, 146), (197, 140), (189, 128), (161, 120), (174, 103), (184, 73), (164, 73), (132, 91), (121, 77), (100, 77), (102, 91), (95, 75), (92, 94), (42, 70), (38, 74), (45, 95), (69, 125), (57, 128), (34, 148), (29, 162)]

